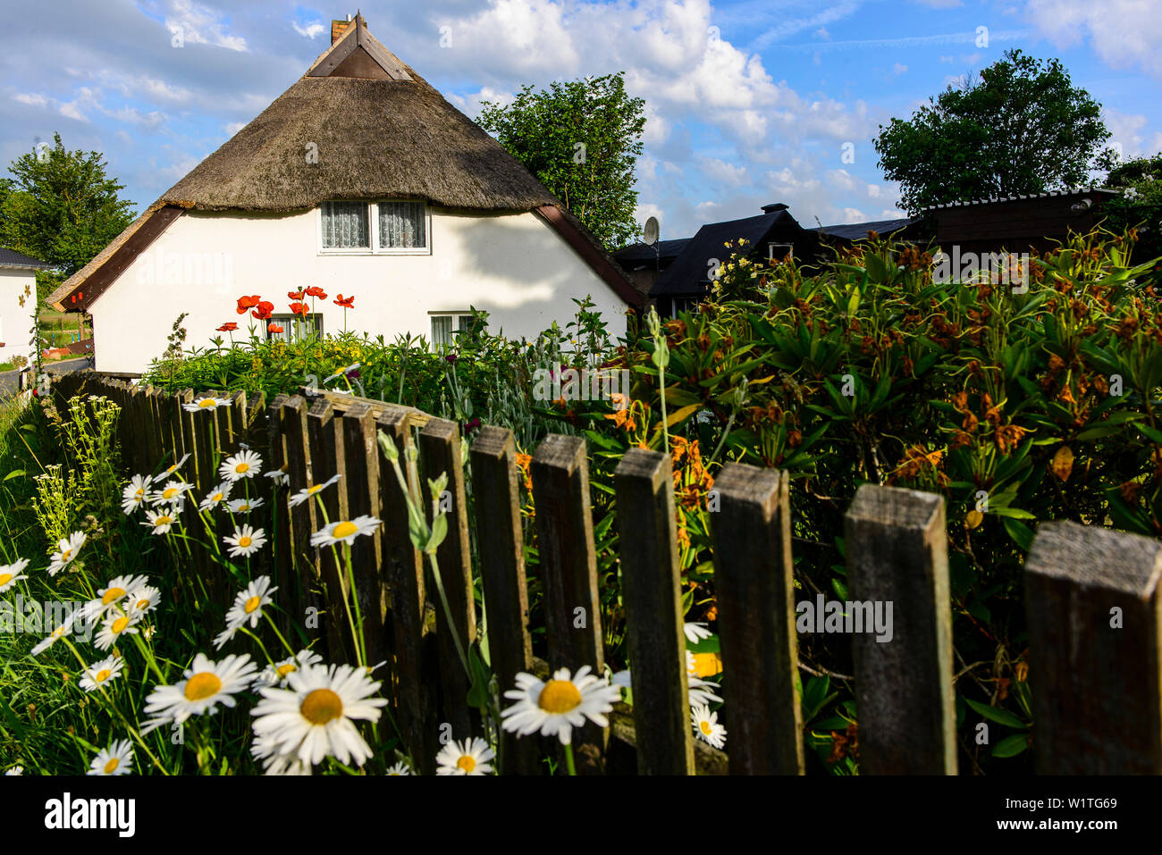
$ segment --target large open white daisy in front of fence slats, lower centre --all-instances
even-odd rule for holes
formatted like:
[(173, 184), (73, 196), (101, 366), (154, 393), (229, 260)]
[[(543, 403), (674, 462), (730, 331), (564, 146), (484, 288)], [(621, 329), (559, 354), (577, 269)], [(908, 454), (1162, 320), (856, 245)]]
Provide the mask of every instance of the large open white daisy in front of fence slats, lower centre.
[(589, 666), (582, 666), (569, 678), (569, 669), (560, 668), (547, 683), (532, 674), (517, 674), (517, 688), (504, 692), (504, 697), (517, 702), (501, 712), (504, 730), (518, 737), (537, 731), (543, 737), (555, 734), (561, 745), (568, 745), (573, 728), (581, 727), (586, 718), (607, 727), (609, 720), (604, 713), (622, 699), (622, 690), (590, 670)]

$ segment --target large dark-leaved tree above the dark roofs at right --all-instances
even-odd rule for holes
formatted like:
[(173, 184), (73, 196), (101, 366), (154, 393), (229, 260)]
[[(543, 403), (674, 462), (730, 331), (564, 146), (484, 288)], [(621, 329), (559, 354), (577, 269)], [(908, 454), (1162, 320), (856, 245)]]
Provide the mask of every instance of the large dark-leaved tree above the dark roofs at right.
[(948, 202), (1045, 193), (1090, 184), (1113, 151), (1102, 105), (1057, 59), (1010, 50), (978, 81), (948, 86), (906, 122), (892, 118), (875, 149), (910, 213)]

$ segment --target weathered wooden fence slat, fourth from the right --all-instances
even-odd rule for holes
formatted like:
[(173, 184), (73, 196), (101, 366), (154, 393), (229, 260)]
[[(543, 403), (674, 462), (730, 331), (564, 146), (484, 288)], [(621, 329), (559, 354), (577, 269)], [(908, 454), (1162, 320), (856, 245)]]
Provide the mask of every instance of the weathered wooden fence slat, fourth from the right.
[(641, 775), (693, 775), (682, 589), (668, 454), (630, 448), (614, 472), (622, 602)]

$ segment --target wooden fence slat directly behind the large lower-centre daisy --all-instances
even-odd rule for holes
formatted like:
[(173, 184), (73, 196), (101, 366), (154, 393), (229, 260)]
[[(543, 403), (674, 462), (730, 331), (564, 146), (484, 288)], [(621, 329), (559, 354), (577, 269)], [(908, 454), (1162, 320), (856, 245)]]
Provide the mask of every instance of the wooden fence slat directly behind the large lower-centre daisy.
[[(550, 434), (531, 470), (550, 666), (576, 671), (587, 664), (600, 675), (605, 656), (584, 440)], [(607, 739), (608, 728), (593, 723), (574, 733), (578, 773), (602, 771)]]

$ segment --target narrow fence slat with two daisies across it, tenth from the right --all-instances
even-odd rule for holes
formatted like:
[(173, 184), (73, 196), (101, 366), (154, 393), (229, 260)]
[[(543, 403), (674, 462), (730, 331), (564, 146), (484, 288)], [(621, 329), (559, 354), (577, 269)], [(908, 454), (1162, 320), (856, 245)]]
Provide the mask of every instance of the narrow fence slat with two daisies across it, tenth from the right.
[[(343, 434), (335, 418), (335, 408), (327, 398), (316, 398), (307, 412), (307, 433), (310, 441), (310, 475), (315, 483), (327, 481), (332, 475), (340, 476), (339, 483), (320, 494), (325, 516), (320, 516), (318, 527), (328, 522), (347, 519), (346, 479), (343, 467)], [(349, 631), (349, 599), (343, 546), (316, 547), (320, 573), (323, 580), (327, 603), (327, 646), (331, 662), (353, 662)]]

